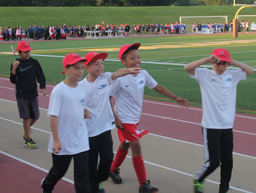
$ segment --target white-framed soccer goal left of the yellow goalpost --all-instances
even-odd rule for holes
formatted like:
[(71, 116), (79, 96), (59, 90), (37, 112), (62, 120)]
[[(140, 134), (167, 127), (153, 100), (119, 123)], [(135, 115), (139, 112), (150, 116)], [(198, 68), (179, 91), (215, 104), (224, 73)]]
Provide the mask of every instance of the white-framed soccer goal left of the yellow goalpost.
[(203, 25), (203, 23), (214, 23), (220, 22), (225, 23), (227, 21), (227, 16), (194, 16), (194, 17), (180, 17), (180, 23), (186, 24), (186, 31), (193, 32), (193, 25), (196, 23), (198, 25), (199, 22)]

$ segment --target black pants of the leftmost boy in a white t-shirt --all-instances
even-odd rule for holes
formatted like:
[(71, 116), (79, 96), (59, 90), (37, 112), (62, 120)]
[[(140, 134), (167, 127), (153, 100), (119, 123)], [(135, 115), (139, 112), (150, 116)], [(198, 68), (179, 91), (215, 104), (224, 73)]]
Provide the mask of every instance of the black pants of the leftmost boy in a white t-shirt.
[(72, 157), (74, 159), (74, 182), (76, 193), (91, 193), (88, 168), (89, 151), (75, 155), (52, 154), (53, 166), (41, 186), (44, 190), (53, 190), (57, 182), (67, 172)]

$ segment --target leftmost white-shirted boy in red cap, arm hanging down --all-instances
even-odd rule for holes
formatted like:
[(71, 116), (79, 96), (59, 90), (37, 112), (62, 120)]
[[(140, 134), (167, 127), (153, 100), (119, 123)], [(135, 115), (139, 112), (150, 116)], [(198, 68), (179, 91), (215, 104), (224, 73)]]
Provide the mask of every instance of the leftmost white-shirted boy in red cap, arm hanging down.
[(90, 148), (84, 122), (84, 118), (91, 118), (86, 109), (89, 89), (78, 83), (86, 61), (75, 53), (66, 55), (62, 61), (62, 74), (66, 74), (66, 79), (51, 93), (47, 114), (52, 134), (48, 151), (52, 153), (53, 166), (41, 182), (43, 193), (52, 192), (67, 172), (72, 158), (76, 193), (91, 193), (88, 168)]

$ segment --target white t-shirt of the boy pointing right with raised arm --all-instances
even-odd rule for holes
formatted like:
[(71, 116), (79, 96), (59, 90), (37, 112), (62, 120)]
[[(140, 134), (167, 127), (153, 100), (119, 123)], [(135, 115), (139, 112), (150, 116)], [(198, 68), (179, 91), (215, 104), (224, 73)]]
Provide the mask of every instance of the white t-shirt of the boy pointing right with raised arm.
[(89, 137), (97, 136), (105, 131), (114, 129), (115, 118), (110, 104), (110, 85), (113, 84), (112, 73), (103, 73), (92, 83), (87, 77), (80, 84), (89, 88), (87, 110), (92, 119), (86, 120)]

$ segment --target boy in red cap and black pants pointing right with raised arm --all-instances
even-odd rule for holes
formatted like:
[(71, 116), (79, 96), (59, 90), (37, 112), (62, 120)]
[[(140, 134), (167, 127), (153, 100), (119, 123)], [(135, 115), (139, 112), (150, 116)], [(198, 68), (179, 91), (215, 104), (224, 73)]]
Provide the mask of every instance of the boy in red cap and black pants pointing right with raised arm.
[[(136, 76), (142, 68), (119, 69), (115, 73), (103, 73), (103, 61), (107, 53), (91, 52), (84, 56), (88, 76), (80, 84), (89, 88), (87, 109), (91, 119), (86, 121), (90, 144), (90, 181), (92, 193), (105, 192), (101, 182), (109, 177), (113, 162), (113, 141), (111, 130), (115, 126), (115, 118), (110, 104), (110, 86), (118, 77), (131, 74)], [(98, 164), (98, 156), (100, 161)]]

